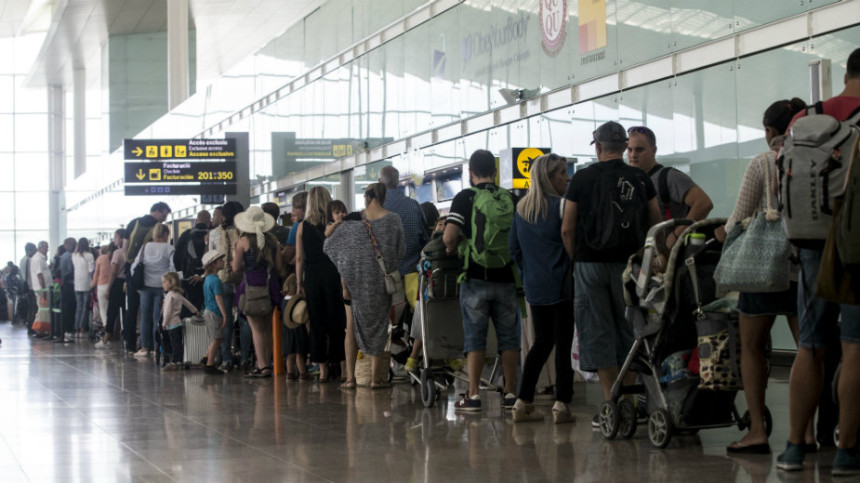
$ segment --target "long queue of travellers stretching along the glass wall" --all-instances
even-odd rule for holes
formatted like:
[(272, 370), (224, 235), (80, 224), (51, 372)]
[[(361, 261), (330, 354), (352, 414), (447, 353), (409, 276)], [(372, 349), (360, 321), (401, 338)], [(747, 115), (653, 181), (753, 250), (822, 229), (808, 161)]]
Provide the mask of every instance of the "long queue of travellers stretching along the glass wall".
[[(767, 150), (747, 167), (717, 239), (743, 230), (742, 221), (759, 212), (779, 215), (782, 204), (791, 202), (792, 195), (779, 188), (786, 174), (780, 174), (777, 158), (799, 119), (810, 114), (837, 121), (855, 118), (860, 111), (860, 49), (848, 59), (844, 83), (842, 93), (816, 106), (793, 98), (764, 110)], [(24, 259), (18, 267), (10, 262), (3, 279), (9, 315), (26, 323), (34, 337), (68, 343), (86, 337), (95, 289), (99, 318), (107, 326), (96, 348), (111, 345), (121, 320), (130, 355), (152, 357), (160, 337), (171, 350), (164, 370), (181, 369), (185, 313), (202, 318), (205, 325), (206, 374), (224, 375), (239, 364), (247, 377), (270, 378), (275, 360), (285, 358), (287, 381), (310, 380), (310, 362), (319, 368), (320, 383), (339, 380), (342, 389), (352, 390), (362, 354), (370, 359), (369, 387), (385, 389), (390, 387), (385, 356), (391, 326), (409, 320), (409, 311), (416, 310), (419, 258), (431, 232), (438, 231), (446, 253), (462, 260), (458, 283), (468, 389), (454, 404), (455, 411), (482, 410), (480, 384), (492, 321), (503, 370), (502, 406), (511, 410), (513, 421), (544, 419), (535, 406), (535, 392), (554, 348), (552, 420), (573, 422), (574, 325), (580, 367), (598, 374), (609, 400), (634, 340), (622, 290), (628, 259), (657, 223), (703, 220), (713, 209), (690, 176), (657, 162), (657, 136), (647, 126), (625, 128), (609, 121), (593, 131), (591, 144), (597, 162), (572, 177), (566, 160), (556, 154), (533, 160), (531, 186), (521, 198), (495, 183), (493, 153), (477, 150), (468, 160), (471, 187), (454, 197), (443, 217), (432, 204), (405, 196), (398, 189), (400, 174), (390, 166), (380, 171), (379, 182), (366, 187), (364, 207), (357, 212), (347, 213), (328, 190), (314, 187), (293, 197), (288, 230), (277, 223), (277, 205), (246, 209), (229, 202), (213, 215), (199, 213), (176, 248), (168, 242), (170, 230), (164, 223), (170, 207), (156, 203), (149, 214), (117, 230), (113, 243), (96, 254), (86, 238), (69, 238), (49, 263), (46, 242), (28, 243)], [(682, 243), (685, 228), (679, 224), (658, 243), (667, 248)], [(856, 475), (860, 307), (826, 300), (816, 290), (828, 236), (816, 239), (818, 243), (797, 243), (786, 290), (738, 295), (740, 371), (750, 426), (726, 451), (771, 451), (765, 428), (766, 343), (781, 315), (788, 319), (798, 352), (790, 380), (790, 435), (777, 467), (802, 470), (805, 455), (818, 450), (822, 440), (816, 439), (813, 419), (823, 392), (824, 356), (841, 351), (840, 437), (833, 474)], [(849, 283), (856, 292), (857, 282)], [(526, 304), (535, 340), (517, 381)], [(61, 308), (59, 320), (52, 320), (54, 306)], [(276, 308), (284, 308), (289, 322), (282, 354), (272, 353)], [(402, 312), (407, 315), (401, 317)], [(406, 363), (410, 371), (418, 370), (421, 357), (422, 336), (413, 334), (415, 349)], [(623, 384), (634, 383), (635, 374), (626, 377)], [(592, 424), (600, 424), (598, 416)]]

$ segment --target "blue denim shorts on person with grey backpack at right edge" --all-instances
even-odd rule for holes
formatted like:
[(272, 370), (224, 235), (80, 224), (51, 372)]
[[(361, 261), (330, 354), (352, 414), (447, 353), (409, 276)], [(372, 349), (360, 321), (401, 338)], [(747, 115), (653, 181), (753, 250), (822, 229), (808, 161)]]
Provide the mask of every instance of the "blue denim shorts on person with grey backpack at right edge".
[[(799, 252), (801, 279), (797, 290), (800, 325), (798, 345), (807, 349), (828, 347), (840, 338), (843, 342), (860, 344), (860, 306), (839, 305), (815, 295), (821, 252), (803, 248)], [(840, 325), (837, 325), (840, 315), (841, 329)]]

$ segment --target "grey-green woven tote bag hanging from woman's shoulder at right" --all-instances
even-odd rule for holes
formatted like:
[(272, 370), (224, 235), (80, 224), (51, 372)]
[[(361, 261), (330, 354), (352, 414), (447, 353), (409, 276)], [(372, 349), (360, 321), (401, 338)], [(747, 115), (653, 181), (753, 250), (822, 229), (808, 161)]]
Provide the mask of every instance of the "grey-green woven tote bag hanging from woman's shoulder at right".
[(717, 292), (782, 292), (790, 286), (791, 245), (779, 211), (772, 205), (770, 162), (766, 162), (765, 209), (728, 233), (714, 271)]

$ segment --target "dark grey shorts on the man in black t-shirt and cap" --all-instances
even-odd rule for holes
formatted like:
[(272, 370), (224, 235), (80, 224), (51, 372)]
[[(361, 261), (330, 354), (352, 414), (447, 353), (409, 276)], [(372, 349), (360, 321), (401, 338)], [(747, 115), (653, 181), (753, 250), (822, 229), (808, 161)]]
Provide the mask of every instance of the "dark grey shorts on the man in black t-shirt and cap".
[(621, 367), (633, 347), (633, 328), (624, 317), (625, 268), (624, 263), (574, 264), (573, 318), (584, 371)]

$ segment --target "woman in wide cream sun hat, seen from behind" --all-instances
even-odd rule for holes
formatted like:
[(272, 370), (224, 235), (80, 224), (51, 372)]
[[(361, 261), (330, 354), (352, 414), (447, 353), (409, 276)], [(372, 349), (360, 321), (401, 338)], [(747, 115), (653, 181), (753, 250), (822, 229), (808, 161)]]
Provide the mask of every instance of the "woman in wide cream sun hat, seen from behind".
[[(236, 287), (235, 300), (241, 299), (249, 285), (267, 286), (274, 310), (280, 303), (279, 277), (284, 272), (280, 245), (270, 232), (275, 226), (275, 219), (259, 206), (251, 206), (236, 215), (234, 223), (240, 236), (233, 252), (233, 271), (243, 272), (242, 282)], [(251, 337), (254, 339), (254, 350), (257, 354), (257, 367), (246, 375), (271, 377), (272, 312), (262, 315), (245, 314), (245, 318), (251, 327)]]

